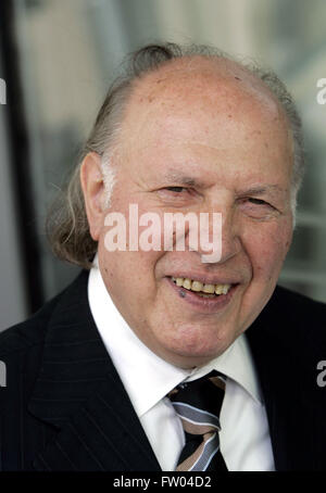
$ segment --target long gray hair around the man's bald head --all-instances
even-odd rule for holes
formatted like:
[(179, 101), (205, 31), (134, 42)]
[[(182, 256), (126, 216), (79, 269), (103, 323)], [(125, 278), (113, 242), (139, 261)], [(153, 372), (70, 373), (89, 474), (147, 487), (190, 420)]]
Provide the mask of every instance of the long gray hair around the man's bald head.
[(304, 174), (304, 152), (301, 119), (289, 91), (278, 76), (255, 62), (246, 63), (228, 53), (206, 46), (179, 46), (176, 43), (149, 45), (135, 51), (126, 59), (125, 71), (110, 87), (98, 113), (95, 125), (80, 153), (78, 164), (64, 190), (55, 199), (47, 219), (47, 235), (53, 253), (67, 262), (84, 268), (91, 266), (97, 252), (97, 242), (89, 233), (85, 202), (80, 187), (80, 166), (89, 152), (102, 157), (102, 173), (108, 194), (108, 203), (114, 185), (114, 168), (111, 156), (117, 143), (124, 110), (129, 100), (134, 84), (145, 75), (178, 58), (190, 56), (223, 58), (237, 62), (260, 78), (277, 97), (289, 121), (293, 136), (294, 156), (292, 168), (292, 211), (296, 197)]

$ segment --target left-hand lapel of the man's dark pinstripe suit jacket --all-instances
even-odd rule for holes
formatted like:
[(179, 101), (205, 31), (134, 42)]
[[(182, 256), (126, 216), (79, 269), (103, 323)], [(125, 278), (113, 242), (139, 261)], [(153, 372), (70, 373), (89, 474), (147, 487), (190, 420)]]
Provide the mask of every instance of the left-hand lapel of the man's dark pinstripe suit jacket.
[(87, 299), (87, 273), (59, 298), (28, 410), (54, 437), (38, 470), (160, 470), (108, 355)]

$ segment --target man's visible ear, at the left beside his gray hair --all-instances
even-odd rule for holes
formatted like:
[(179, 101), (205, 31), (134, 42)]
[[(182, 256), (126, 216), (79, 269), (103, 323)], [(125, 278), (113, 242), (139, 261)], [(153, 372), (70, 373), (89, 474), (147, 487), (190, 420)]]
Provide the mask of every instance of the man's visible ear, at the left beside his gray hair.
[(101, 156), (90, 152), (80, 167), (80, 184), (84, 193), (89, 232), (95, 241), (99, 240), (103, 225), (104, 182)]

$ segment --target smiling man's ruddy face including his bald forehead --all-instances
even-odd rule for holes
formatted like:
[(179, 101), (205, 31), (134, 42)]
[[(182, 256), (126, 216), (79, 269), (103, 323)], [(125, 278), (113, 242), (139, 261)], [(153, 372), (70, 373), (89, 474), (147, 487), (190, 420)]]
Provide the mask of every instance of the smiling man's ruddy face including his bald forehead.
[[(85, 184), (93, 179), (95, 163), (84, 166)], [(177, 61), (137, 83), (114, 164), (110, 208), (95, 212), (103, 188), (85, 195), (106, 289), (154, 353), (180, 367), (202, 365), (256, 318), (290, 245), (286, 116), (262, 83), (234, 63)], [(128, 230), (129, 204), (138, 204), (139, 216), (221, 213), (221, 260), (203, 263), (200, 249), (109, 252), (104, 217), (123, 213)], [(189, 281), (177, 286), (186, 278), (201, 282), (193, 287), (202, 291), (212, 291), (204, 285), (230, 287), (214, 286), (226, 294), (203, 295), (187, 289)]]

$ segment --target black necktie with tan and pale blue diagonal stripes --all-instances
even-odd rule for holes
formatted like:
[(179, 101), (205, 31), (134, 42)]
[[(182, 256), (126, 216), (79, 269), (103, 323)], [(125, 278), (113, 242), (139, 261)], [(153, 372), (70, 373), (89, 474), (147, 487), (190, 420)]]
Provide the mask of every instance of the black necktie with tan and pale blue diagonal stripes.
[(226, 471), (220, 450), (220, 412), (226, 377), (217, 371), (180, 383), (168, 397), (181, 419), (186, 443), (177, 471)]

